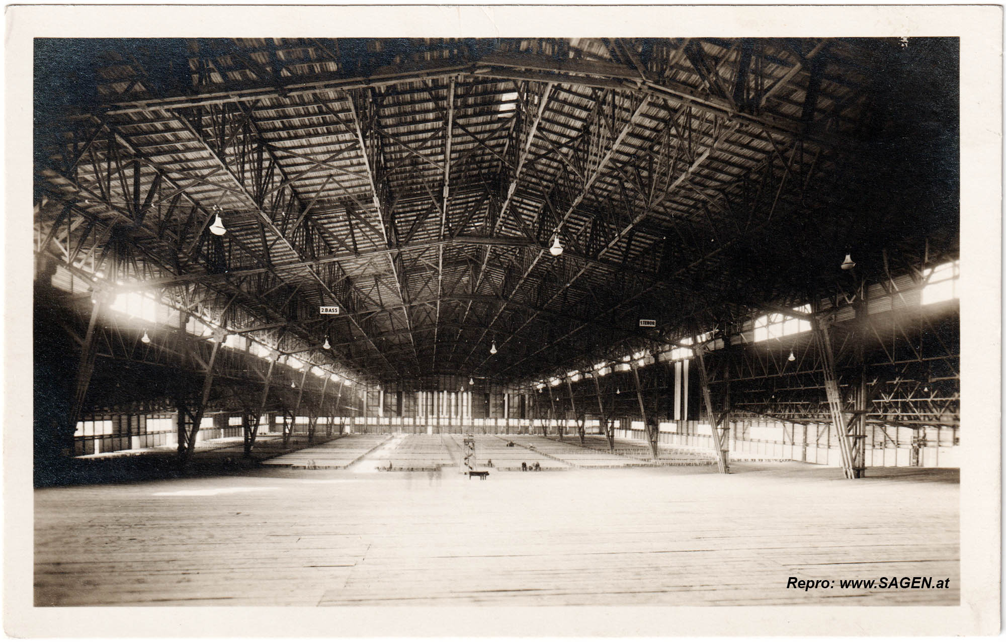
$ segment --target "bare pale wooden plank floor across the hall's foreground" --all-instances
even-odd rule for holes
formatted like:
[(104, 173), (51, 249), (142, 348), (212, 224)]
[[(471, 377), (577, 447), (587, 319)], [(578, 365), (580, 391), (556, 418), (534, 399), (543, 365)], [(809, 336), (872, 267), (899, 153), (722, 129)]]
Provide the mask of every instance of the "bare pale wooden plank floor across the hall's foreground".
[[(263, 468), (35, 491), (35, 603), (951, 605), (956, 470)], [(946, 590), (787, 589), (950, 579)]]

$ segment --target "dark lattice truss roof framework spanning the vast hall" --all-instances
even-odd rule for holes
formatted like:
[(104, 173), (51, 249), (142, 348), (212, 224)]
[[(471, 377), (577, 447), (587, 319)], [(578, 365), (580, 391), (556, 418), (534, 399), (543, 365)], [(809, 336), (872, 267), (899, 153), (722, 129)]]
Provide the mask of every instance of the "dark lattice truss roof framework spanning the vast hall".
[[(39, 88), (36, 253), (374, 382), (524, 382), (833, 296), (849, 247), (873, 282), (957, 252), (956, 212), (864, 182), (893, 171), (871, 145), (900, 114), (891, 78), (939, 53), (896, 40), (49, 40), (38, 59), (67, 50), (92, 62)], [(753, 399), (775, 357), (738, 358)], [(801, 363), (776, 392), (809, 385)]]

